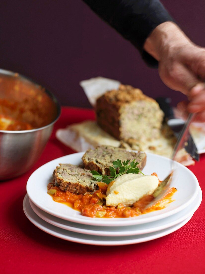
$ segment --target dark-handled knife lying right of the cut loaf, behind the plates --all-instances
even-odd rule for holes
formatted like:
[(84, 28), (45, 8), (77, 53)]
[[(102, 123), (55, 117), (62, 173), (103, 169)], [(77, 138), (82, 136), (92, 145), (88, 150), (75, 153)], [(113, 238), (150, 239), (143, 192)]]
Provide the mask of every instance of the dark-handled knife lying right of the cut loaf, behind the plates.
[[(185, 121), (183, 121), (182, 119), (174, 118), (174, 112), (172, 107), (170, 106), (170, 103), (171, 103), (170, 98), (158, 97), (156, 98), (156, 101), (158, 102), (160, 108), (165, 114), (164, 121), (172, 129), (172, 131), (174, 132), (174, 135), (178, 139), (180, 132), (182, 131), (185, 125)], [(186, 152), (188, 152), (192, 156), (192, 158), (194, 158), (196, 161), (199, 161), (200, 156), (198, 154), (197, 147), (189, 131), (187, 132), (184, 147)]]

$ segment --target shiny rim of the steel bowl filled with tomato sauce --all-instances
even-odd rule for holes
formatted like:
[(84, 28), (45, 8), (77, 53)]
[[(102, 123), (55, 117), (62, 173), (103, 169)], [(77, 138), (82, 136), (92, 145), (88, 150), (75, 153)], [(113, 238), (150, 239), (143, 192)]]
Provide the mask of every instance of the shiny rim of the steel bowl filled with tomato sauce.
[[(11, 76), (18, 76), (20, 78), (23, 78), (23, 79), (25, 79), (27, 81), (32, 82), (35, 85), (43, 87), (41, 84), (38, 84), (37, 82), (33, 81), (31, 78), (29, 78), (27, 76), (24, 76), (24, 75), (22, 75), (22, 74), (20, 74), (18, 72), (13, 72), (13, 71), (10, 71), (10, 70), (5, 70), (5, 69), (0, 68), (0, 75), (1, 74), (3, 74), (3, 75), (11, 75)], [(59, 119), (59, 117), (61, 115), (61, 105), (60, 105), (58, 99), (48, 89), (46, 89), (45, 87), (43, 87), (43, 88), (44, 88), (44, 91), (52, 99), (52, 101), (55, 103), (55, 105), (57, 107), (57, 114), (56, 114), (55, 119), (52, 122), (50, 122), (49, 124), (47, 124), (47, 125), (45, 125), (43, 127), (38, 127), (37, 129), (29, 129), (29, 130), (0, 130), (0, 133), (12, 133), (12, 134), (15, 134), (15, 133), (35, 132), (35, 131), (38, 131), (38, 130), (43, 130), (43, 129), (45, 129), (45, 128), (51, 126), (51, 125), (53, 125)]]

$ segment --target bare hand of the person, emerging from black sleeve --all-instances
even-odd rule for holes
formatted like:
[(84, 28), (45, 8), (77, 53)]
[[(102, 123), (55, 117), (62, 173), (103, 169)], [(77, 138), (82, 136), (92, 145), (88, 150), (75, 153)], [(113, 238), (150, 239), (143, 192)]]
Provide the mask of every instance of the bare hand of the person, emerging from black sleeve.
[(171, 89), (187, 95), (189, 102), (180, 107), (197, 113), (196, 120), (205, 122), (205, 48), (192, 43), (172, 22), (156, 27), (144, 49), (159, 61), (159, 75)]

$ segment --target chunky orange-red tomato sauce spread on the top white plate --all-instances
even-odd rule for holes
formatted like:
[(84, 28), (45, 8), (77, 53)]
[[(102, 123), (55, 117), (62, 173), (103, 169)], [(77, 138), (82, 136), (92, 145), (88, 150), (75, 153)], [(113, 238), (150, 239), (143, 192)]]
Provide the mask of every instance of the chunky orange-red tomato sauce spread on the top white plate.
[[(156, 173), (152, 174), (157, 176)], [(159, 181), (160, 184), (161, 181)], [(98, 183), (99, 189), (93, 194), (76, 195), (69, 191), (62, 191), (53, 183), (47, 185), (48, 194), (50, 194), (55, 202), (67, 204), (75, 210), (78, 210), (84, 216), (97, 218), (127, 218), (139, 216), (155, 210), (161, 210), (166, 207), (166, 204), (172, 202), (172, 195), (177, 191), (176, 188), (169, 188), (166, 195), (147, 209), (144, 209), (152, 200), (152, 195), (145, 195), (132, 206), (127, 207), (123, 204), (118, 204), (117, 207), (106, 206), (106, 190), (108, 185), (102, 182)]]

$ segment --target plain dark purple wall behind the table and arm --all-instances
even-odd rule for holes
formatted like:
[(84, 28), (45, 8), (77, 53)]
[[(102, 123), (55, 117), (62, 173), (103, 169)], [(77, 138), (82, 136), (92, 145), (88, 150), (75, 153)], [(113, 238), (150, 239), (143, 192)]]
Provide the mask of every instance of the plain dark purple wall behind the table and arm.
[[(163, 0), (184, 32), (205, 46), (205, 1)], [(79, 81), (95, 76), (139, 87), (149, 96), (184, 98), (81, 0), (1, 0), (0, 67), (50, 89), (63, 105), (90, 107)]]

